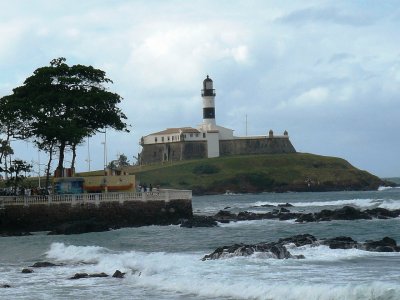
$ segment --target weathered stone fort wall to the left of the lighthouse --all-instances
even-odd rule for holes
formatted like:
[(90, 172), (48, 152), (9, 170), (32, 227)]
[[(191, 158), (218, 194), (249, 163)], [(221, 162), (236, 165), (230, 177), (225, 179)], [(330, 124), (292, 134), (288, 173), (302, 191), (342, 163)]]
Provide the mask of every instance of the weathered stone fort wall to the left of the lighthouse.
[(140, 154), (142, 164), (179, 161), (207, 157), (206, 141), (175, 142), (143, 145)]

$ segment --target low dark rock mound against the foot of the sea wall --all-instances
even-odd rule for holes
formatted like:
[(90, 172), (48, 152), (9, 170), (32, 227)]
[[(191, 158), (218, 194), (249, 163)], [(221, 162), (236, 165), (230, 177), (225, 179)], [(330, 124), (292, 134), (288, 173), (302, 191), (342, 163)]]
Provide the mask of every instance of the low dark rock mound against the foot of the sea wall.
[(101, 232), (110, 230), (109, 224), (104, 222), (97, 222), (93, 220), (85, 220), (85, 221), (73, 221), (64, 223), (60, 226), (54, 228), (49, 235), (55, 234), (81, 234), (88, 232)]

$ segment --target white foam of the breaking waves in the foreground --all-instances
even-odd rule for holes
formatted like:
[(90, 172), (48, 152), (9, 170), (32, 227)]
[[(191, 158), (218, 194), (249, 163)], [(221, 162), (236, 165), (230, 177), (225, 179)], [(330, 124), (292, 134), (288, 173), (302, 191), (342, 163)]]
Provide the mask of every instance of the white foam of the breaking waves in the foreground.
[[(343, 284), (332, 274), (325, 274), (313, 266), (314, 261), (335, 261), (352, 257), (378, 255), (361, 250), (332, 250), (326, 246), (293, 248), (292, 254), (304, 254), (304, 260), (277, 260), (268, 255), (253, 255), (223, 260), (201, 261), (206, 253), (164, 253), (164, 252), (113, 252), (96, 246), (73, 246), (63, 243), (53, 243), (47, 252), (47, 257), (57, 261), (90, 262), (91, 265), (66, 266), (63, 268), (48, 268), (47, 272), (65, 272), (59, 276), (67, 278), (75, 272), (106, 272), (112, 274), (116, 269), (127, 272), (126, 284), (131, 288), (144, 291), (159, 291), (175, 293), (177, 297), (197, 295), (200, 297), (218, 299), (396, 299), (400, 296), (400, 287), (390, 282), (376, 282), (370, 278), (368, 283), (353, 282)], [(382, 254), (379, 255), (394, 255)], [(396, 255), (399, 255), (396, 253)], [(313, 278), (299, 277), (301, 270), (312, 269)], [(297, 268), (297, 269), (296, 269)], [(351, 271), (351, 269), (350, 269)], [(49, 273), (46, 280), (50, 280)], [(317, 274), (317, 275), (315, 275)], [(67, 276), (68, 275), (68, 276)], [(354, 274), (356, 275), (356, 274)], [(343, 277), (337, 274), (337, 277)], [(324, 283), (313, 281), (321, 280)], [(325, 278), (324, 278), (325, 277)], [(66, 281), (67, 285), (93, 286), (113, 284), (115, 281), (90, 279), (91, 281)], [(103, 280), (103, 281), (101, 281)], [(125, 282), (125, 281), (124, 281)], [(329, 284), (328, 284), (329, 282)], [(392, 297), (392, 298), (390, 298)]]

